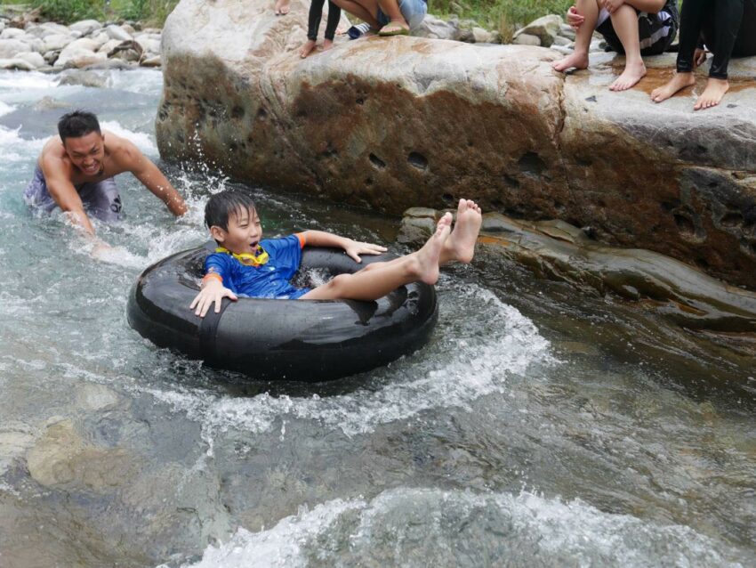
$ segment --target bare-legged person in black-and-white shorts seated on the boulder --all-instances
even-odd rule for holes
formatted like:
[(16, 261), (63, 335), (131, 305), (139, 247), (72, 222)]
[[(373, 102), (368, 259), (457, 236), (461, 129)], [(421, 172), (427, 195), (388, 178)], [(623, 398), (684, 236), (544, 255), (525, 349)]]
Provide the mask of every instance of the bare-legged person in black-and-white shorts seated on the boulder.
[(567, 11), (575, 29), (575, 53), (555, 61), (558, 71), (586, 69), (593, 30), (617, 53), (625, 54), (622, 75), (609, 86), (625, 91), (646, 75), (642, 56), (657, 55), (672, 44), (677, 33), (677, 0), (577, 0)]

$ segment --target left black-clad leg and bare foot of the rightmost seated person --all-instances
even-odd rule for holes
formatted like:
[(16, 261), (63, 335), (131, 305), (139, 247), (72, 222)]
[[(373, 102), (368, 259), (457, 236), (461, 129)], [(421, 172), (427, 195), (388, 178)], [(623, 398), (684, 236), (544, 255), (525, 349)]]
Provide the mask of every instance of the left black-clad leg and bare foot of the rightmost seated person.
[(713, 0), (686, 0), (680, 12), (680, 47), (677, 53), (677, 72), (666, 85), (651, 91), (654, 102), (666, 101), (674, 93), (687, 86), (696, 85), (693, 69), (696, 68), (694, 55), (701, 37), (704, 18), (713, 19)]

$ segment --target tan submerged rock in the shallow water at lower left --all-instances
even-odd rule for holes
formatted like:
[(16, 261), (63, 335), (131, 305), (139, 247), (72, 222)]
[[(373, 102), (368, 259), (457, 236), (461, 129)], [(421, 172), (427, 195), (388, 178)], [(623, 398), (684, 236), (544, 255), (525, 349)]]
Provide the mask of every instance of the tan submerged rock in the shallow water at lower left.
[(46, 428), (28, 450), (27, 467), (36, 483), (44, 487), (95, 492), (114, 491), (137, 472), (128, 451), (85, 442), (69, 420)]

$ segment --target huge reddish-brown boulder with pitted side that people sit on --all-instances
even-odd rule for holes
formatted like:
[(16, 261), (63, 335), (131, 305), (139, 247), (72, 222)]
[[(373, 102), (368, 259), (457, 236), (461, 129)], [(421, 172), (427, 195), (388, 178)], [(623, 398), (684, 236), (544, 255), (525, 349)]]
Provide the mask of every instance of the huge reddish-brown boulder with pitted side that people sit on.
[(268, 4), (182, 0), (167, 20), (165, 158), (390, 213), (469, 196), (756, 288), (753, 64), (694, 113), (687, 93), (648, 101), (673, 59), (626, 93), (611, 55), (565, 77), (530, 46), (370, 37), (302, 61), (307, 6)]

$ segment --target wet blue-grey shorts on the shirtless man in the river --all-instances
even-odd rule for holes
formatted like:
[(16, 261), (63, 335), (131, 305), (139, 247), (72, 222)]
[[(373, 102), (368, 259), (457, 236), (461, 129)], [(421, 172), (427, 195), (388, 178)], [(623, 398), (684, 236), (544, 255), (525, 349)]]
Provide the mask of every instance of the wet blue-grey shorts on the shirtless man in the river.
[[(109, 177), (101, 182), (82, 183), (76, 185), (76, 192), (84, 204), (87, 215), (92, 215), (106, 223), (121, 220), (121, 196), (116, 188), (116, 181)], [(47, 183), (39, 165), (34, 170), (34, 177), (24, 191), (24, 201), (30, 207), (50, 213), (58, 207), (47, 191)]]

